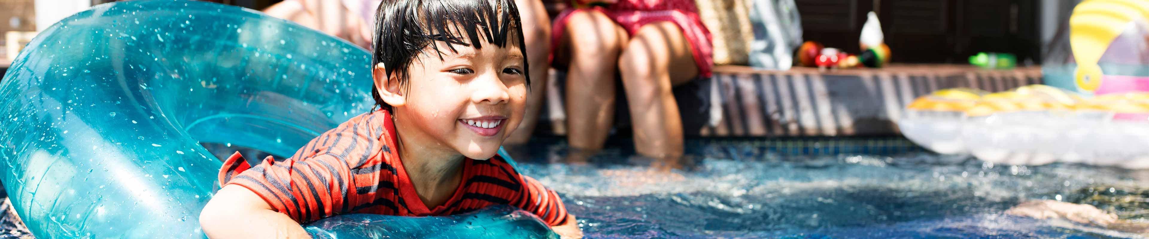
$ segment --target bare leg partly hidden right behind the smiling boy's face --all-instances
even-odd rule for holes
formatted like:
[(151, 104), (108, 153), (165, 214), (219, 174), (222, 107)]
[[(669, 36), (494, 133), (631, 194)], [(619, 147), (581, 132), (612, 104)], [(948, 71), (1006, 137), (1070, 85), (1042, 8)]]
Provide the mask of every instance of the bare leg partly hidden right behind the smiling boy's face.
[(506, 144), (525, 144), (534, 132), (534, 125), (539, 123), (539, 109), (547, 99), (547, 69), (550, 62), (547, 61), (550, 54), (550, 17), (540, 0), (515, 0), (518, 5), (518, 14), (523, 21), (523, 40), (526, 41), (526, 59), (530, 61), (531, 91), (526, 95), (526, 115), (518, 129), (507, 138)]

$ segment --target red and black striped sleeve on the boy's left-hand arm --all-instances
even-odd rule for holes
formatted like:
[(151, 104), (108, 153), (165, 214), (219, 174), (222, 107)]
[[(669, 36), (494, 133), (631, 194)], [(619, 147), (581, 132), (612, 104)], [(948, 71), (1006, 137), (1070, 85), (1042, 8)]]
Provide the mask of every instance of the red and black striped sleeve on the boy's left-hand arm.
[(304, 223), (346, 211), (350, 177), (346, 161), (331, 154), (317, 154), (283, 162), (269, 157), (232, 176), (225, 185), (246, 187), (276, 211)]

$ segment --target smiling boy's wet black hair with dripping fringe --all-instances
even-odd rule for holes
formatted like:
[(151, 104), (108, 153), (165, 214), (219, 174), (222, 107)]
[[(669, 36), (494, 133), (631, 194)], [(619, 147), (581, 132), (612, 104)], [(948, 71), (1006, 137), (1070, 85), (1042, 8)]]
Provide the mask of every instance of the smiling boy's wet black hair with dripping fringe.
[[(481, 48), (480, 39), (499, 47), (512, 40), (518, 44), (523, 76), (530, 85), (523, 28), (514, 0), (384, 0), (375, 16), (371, 68), (383, 63), (386, 76), (398, 74), (399, 84), (406, 86), (407, 70), (423, 49), (431, 46), (442, 57), (435, 40), (446, 43), (454, 53), (455, 47)], [(378, 86), (371, 87), (371, 95), (376, 106), (391, 110), (391, 105), (379, 97)]]

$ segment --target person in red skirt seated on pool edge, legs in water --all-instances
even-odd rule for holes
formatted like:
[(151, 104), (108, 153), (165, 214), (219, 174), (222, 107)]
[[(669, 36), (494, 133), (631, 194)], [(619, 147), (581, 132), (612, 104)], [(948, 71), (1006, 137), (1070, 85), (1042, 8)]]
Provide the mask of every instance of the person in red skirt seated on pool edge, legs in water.
[[(553, 64), (566, 70), (572, 156), (603, 147), (622, 76), (639, 154), (683, 156), (683, 121), (671, 87), (710, 77), (710, 32), (692, 0), (576, 0), (555, 18)], [(617, 69), (617, 70), (616, 70)], [(616, 72), (617, 71), (617, 72)]]

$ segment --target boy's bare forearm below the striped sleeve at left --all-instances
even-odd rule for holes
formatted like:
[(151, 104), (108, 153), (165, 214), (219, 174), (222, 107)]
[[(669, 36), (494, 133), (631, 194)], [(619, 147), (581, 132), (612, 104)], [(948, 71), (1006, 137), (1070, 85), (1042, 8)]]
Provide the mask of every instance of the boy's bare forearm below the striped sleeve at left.
[(200, 213), (208, 238), (311, 238), (286, 214), (239, 185), (219, 188)]

